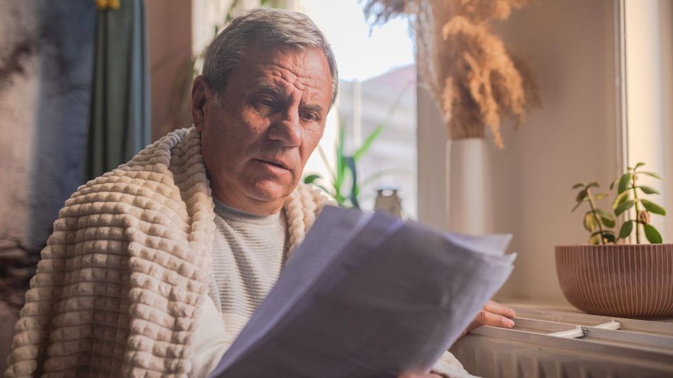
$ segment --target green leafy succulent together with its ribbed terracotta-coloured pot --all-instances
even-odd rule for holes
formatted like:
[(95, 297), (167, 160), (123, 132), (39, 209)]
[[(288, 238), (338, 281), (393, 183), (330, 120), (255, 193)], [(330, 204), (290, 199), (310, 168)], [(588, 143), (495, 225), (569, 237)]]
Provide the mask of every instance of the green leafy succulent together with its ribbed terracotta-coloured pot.
[(615, 193), (611, 211), (600, 206), (611, 193), (594, 193), (598, 182), (573, 185), (578, 193), (572, 211), (585, 206), (582, 224), (589, 242), (557, 246), (556, 272), (567, 300), (590, 314), (673, 316), (673, 244), (663, 244), (650, 223), (652, 215), (666, 211), (646, 198), (659, 194), (657, 190), (639, 183), (643, 176), (663, 178), (642, 170), (644, 165), (628, 167), (610, 185)]

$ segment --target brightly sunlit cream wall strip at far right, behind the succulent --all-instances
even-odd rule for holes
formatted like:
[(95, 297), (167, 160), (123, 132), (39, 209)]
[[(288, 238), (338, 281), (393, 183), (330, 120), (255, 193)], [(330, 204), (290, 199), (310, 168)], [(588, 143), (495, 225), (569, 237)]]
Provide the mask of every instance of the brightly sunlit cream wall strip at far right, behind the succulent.
[[(673, 2), (625, 1), (628, 163), (668, 178), (643, 177), (639, 182), (658, 189), (648, 196), (673, 210)], [(673, 217), (652, 215), (663, 240), (673, 238)]]

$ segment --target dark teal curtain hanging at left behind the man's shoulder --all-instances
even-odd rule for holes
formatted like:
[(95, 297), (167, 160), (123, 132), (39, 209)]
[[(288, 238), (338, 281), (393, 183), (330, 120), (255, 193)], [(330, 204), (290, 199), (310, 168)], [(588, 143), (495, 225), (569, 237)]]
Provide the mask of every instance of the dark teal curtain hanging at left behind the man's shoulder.
[(126, 163), (150, 143), (150, 84), (143, 0), (98, 9), (87, 179)]

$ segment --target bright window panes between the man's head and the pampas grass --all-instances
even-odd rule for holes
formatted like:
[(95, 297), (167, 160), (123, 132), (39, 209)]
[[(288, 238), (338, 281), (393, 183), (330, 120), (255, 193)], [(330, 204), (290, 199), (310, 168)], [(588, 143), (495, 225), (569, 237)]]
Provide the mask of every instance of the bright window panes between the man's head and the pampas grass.
[[(339, 98), (321, 148), (334, 166), (338, 125), (344, 128), (345, 154), (352, 154), (379, 125), (383, 132), (358, 162), (361, 206), (373, 209), (376, 189), (397, 187), (402, 208), (411, 218), (416, 200), (416, 70), (404, 20), (371, 30), (356, 0), (303, 1), (303, 10), (332, 44), (339, 66)], [(318, 153), (305, 172), (330, 174)], [(345, 185), (346, 186), (346, 185)]]

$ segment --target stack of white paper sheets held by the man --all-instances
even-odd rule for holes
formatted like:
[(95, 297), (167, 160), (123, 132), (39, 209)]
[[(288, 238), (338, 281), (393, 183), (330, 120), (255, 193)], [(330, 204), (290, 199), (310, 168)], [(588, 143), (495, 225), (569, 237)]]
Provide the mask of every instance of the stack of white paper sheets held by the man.
[(509, 276), (510, 239), (328, 206), (210, 377), (427, 371)]

